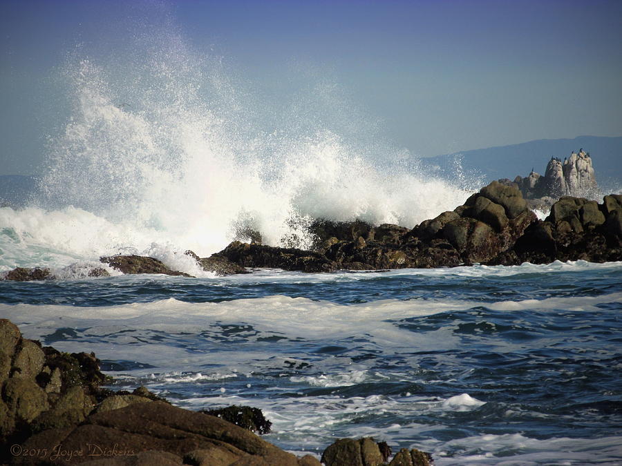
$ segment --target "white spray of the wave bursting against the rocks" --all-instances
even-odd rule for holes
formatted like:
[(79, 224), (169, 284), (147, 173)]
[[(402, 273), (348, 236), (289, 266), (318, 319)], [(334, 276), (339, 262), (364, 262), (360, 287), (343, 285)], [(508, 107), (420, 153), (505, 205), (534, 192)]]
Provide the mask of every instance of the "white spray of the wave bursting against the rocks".
[[(62, 76), (73, 113), (51, 138), (40, 182), (46, 234), (28, 234), (73, 255), (161, 245), (208, 255), (241, 229), (267, 244), (305, 247), (313, 218), (413, 227), (469, 195), (418, 175), (404, 150), (339, 133), (334, 122), (350, 118), (348, 104), (337, 116), (308, 114), (321, 108), (310, 104), (315, 95), (331, 97), (324, 82), (268, 117), (274, 105), (174, 28), (137, 35), (111, 57), (77, 49)], [(356, 125), (352, 116), (341, 127)]]

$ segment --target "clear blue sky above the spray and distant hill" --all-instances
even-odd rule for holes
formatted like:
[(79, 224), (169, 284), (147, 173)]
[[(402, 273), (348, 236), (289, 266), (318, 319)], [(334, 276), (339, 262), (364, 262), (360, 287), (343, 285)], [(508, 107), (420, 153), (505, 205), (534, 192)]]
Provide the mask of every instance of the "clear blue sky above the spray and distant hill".
[(0, 174), (39, 171), (76, 45), (97, 61), (145, 28), (273, 101), (329, 81), (415, 155), (622, 135), (621, 1), (3, 0), (0, 18)]

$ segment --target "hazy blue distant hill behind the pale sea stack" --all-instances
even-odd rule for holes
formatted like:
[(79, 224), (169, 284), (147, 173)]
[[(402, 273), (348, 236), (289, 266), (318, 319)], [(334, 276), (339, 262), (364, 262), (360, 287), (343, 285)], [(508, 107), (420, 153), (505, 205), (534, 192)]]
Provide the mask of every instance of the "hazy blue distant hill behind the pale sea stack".
[(529, 175), (531, 168), (540, 174), (551, 157), (569, 157), (583, 148), (589, 152), (600, 186), (622, 184), (622, 137), (579, 136), (574, 139), (538, 139), (421, 159), (423, 168), (440, 175), (453, 177), (455, 161), (461, 159), (462, 171), (467, 177), (478, 176), (483, 182), (493, 179), (514, 179), (516, 175)]

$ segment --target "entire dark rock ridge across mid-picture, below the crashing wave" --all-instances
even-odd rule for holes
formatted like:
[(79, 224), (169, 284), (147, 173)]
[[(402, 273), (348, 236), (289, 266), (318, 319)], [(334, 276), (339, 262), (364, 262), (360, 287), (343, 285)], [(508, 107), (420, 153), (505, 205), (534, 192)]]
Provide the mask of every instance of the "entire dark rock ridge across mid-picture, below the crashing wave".
[[(538, 220), (517, 186), (492, 182), (462, 206), (413, 229), (317, 220), (310, 233), (316, 238), (311, 251), (234, 241), (209, 258), (199, 258), (192, 251), (186, 254), (203, 270), (217, 275), (249, 273), (253, 268), (332, 272), (554, 260), (613, 262), (622, 260), (622, 195), (606, 195), (602, 204), (583, 197), (561, 197), (548, 217)], [(138, 255), (104, 257), (101, 262), (122, 273), (190, 276)], [(89, 275), (109, 273), (95, 268)], [(50, 278), (53, 274), (42, 268), (18, 268), (4, 276), (17, 281)]]

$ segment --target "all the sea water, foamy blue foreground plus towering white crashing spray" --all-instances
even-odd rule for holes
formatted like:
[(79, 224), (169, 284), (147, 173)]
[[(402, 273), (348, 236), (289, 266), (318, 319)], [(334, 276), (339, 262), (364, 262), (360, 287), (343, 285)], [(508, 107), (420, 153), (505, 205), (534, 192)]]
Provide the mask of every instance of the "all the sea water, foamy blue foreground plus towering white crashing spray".
[[(201, 271), (185, 250), (245, 229), (305, 247), (317, 217), (413, 227), (480, 180), (424, 173), (321, 73), (274, 102), (176, 28), (132, 27), (57, 68), (70, 118), (26, 207), (0, 208), (0, 273), (56, 279), (0, 281), (0, 317), (95, 351), (113, 388), (259, 407), (297, 454), (373, 436), (437, 465), (622, 463), (621, 263)], [(117, 253), (196, 278), (88, 278)]]

